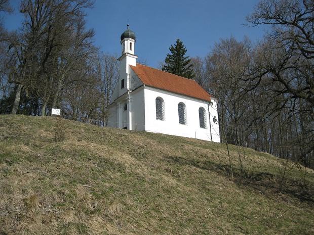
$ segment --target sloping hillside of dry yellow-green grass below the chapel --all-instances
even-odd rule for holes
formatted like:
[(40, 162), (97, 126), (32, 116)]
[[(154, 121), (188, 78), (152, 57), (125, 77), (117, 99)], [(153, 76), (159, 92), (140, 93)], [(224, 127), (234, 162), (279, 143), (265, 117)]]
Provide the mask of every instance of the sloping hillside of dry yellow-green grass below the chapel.
[(56, 123), (0, 116), (2, 235), (314, 234), (309, 169), (288, 163), (280, 193), (269, 154), (245, 149), (241, 177), (229, 146), (230, 179), (223, 144), (69, 120), (56, 143)]

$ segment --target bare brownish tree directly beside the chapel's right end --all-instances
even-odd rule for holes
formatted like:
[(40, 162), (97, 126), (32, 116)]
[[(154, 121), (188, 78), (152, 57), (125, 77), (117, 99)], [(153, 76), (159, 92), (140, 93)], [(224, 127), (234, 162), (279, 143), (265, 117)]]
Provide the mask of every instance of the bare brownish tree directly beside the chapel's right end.
[(238, 42), (234, 38), (215, 43), (212, 53), (206, 58), (206, 75), (210, 93), (218, 99), (220, 128), (226, 133), (229, 143), (243, 144), (249, 135), (246, 123), (246, 110), (249, 106), (243, 96), (247, 84), (241, 79), (248, 76), (251, 42), (246, 38)]

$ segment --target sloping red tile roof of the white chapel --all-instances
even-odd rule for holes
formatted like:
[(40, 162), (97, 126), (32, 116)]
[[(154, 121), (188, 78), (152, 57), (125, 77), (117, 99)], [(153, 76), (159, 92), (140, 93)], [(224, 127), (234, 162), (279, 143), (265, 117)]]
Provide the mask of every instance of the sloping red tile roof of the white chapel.
[(136, 66), (130, 65), (130, 67), (147, 86), (204, 101), (210, 101), (209, 93), (194, 80), (141, 64), (136, 64)]

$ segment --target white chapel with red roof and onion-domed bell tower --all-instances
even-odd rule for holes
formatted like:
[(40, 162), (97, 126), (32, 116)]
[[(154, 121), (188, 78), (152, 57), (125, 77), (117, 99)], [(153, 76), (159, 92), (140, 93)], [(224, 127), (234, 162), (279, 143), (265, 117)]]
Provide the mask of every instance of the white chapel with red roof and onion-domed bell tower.
[(108, 126), (220, 142), (216, 99), (194, 80), (137, 64), (129, 25), (121, 45)]

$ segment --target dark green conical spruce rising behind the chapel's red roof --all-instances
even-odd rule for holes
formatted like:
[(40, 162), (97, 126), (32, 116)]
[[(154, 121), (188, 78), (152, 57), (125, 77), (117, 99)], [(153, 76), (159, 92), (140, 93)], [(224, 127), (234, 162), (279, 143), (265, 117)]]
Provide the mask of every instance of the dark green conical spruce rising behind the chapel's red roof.
[(183, 42), (177, 38), (176, 43), (170, 46), (170, 54), (167, 54), (163, 70), (189, 79), (194, 78), (193, 65), (189, 56), (185, 56), (186, 48)]

